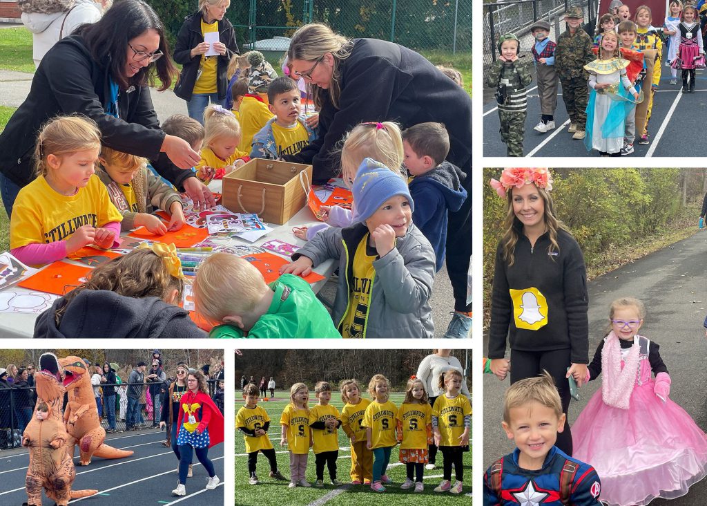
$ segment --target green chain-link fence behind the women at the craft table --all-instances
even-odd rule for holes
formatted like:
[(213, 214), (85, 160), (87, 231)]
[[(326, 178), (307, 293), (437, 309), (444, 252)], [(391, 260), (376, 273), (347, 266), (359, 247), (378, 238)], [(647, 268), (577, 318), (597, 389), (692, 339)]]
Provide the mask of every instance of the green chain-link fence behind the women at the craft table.
[[(172, 42), (194, 0), (148, 0), (167, 25)], [(414, 50), (472, 50), (472, 0), (249, 0), (231, 2), (242, 50), (284, 52), (298, 26), (330, 25), (349, 38), (390, 40)]]

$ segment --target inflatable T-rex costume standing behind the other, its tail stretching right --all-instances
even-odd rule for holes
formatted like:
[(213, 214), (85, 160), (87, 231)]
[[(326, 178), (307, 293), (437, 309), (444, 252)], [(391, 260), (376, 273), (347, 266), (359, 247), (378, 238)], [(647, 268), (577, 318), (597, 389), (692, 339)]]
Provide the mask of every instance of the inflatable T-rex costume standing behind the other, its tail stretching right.
[(103, 444), (105, 429), (100, 426), (90, 374), (83, 360), (79, 357), (60, 358), (59, 364), (64, 368), (64, 387), (69, 393), (69, 403), (64, 411), (64, 423), (69, 432), (66, 454), (73, 459), (74, 447), (78, 442), (81, 466), (88, 466), (93, 455), (104, 459), (131, 456), (132, 450), (119, 450)]

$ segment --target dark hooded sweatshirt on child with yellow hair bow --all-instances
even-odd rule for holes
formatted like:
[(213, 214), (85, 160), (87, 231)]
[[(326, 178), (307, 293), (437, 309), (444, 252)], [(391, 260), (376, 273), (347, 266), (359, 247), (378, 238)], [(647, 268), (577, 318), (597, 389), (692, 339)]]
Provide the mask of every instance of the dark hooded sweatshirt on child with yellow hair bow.
[(64, 311), (57, 328), (57, 299), (35, 322), (35, 338), (206, 338), (189, 312), (157, 297), (134, 299), (107, 290), (83, 290)]

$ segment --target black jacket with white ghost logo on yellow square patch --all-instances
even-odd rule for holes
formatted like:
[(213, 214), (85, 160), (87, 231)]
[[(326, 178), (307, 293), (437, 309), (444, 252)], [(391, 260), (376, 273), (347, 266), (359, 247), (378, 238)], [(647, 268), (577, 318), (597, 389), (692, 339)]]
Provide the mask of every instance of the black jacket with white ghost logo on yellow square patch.
[[(517, 220), (513, 226), (519, 233), (513, 265), (509, 267), (503, 260), (502, 243), (496, 251), (489, 358), (503, 358), (508, 335), (512, 350), (569, 349), (571, 362), (588, 364), (587, 270), (577, 241), (559, 230), (559, 251), (551, 254), (549, 232), (540, 236), (531, 248)], [(537, 292), (530, 291), (531, 288)]]

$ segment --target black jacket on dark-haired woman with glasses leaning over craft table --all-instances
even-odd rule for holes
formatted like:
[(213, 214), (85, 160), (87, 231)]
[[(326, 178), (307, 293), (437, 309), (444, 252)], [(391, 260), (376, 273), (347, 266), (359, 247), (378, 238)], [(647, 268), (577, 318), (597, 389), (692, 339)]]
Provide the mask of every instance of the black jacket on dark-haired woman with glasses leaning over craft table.
[(98, 124), (102, 142), (151, 160), (157, 171), (177, 188), (192, 171), (175, 166), (160, 147), (160, 130), (148, 87), (131, 86), (118, 96), (121, 119), (103, 108), (110, 97), (110, 62), (95, 62), (81, 35), (57, 42), (42, 59), (25, 101), (0, 134), (0, 171), (24, 186), (35, 178), (33, 151), (42, 125), (57, 115), (79, 113)]

